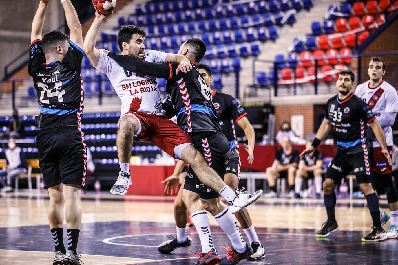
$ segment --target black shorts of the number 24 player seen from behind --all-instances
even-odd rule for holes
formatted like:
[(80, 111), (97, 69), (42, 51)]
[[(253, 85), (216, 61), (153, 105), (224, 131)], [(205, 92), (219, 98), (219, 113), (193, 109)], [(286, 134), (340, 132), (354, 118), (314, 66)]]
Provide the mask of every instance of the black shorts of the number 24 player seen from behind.
[(60, 183), (84, 186), (86, 143), (84, 133), (75, 126), (39, 130), (39, 166), (46, 188)]

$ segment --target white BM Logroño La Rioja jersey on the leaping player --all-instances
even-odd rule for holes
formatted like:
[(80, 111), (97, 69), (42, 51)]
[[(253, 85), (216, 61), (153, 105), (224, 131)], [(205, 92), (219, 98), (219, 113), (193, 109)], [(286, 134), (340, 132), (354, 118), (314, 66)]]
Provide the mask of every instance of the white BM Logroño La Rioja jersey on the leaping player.
[[(156, 77), (129, 72), (103, 52), (100, 54), (96, 68), (107, 75), (122, 101), (121, 116), (135, 111), (157, 115), (165, 113)], [(145, 50), (144, 56), (147, 62), (160, 63), (166, 60), (167, 54), (156, 50)]]

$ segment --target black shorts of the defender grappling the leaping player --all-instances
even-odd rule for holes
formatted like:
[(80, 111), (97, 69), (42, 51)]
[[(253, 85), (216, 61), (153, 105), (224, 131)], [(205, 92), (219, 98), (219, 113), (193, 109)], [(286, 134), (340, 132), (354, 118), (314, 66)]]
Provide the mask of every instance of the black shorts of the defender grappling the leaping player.
[[(225, 168), (231, 155), (230, 145), (225, 135), (206, 132), (191, 133), (190, 136), (193, 139), (193, 145), (203, 155), (207, 164), (219, 174), (220, 178), (224, 179)], [(193, 191), (202, 199), (215, 199), (220, 196), (217, 191), (205, 186), (199, 180), (191, 166), (185, 176), (184, 190)]]

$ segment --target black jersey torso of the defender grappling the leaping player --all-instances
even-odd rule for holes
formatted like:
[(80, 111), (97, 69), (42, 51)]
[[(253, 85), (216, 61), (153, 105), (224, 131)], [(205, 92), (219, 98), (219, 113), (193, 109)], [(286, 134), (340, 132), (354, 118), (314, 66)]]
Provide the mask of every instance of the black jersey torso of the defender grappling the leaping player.
[(177, 124), (188, 133), (222, 133), (209, 87), (195, 64), (192, 64), (191, 71), (178, 75), (175, 74), (177, 67), (177, 63), (170, 62), (173, 76), (166, 84), (166, 102), (173, 106), (177, 115)]

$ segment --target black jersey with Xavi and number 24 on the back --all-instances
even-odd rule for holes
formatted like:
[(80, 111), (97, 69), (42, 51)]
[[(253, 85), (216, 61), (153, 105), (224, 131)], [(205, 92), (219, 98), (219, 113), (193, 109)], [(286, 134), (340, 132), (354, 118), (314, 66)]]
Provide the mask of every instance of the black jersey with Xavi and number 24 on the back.
[(83, 83), (81, 65), (84, 52), (69, 41), (62, 62), (46, 64), (41, 41), (33, 41), (29, 51), (28, 74), (39, 98), (40, 114), (37, 129), (48, 129), (81, 123), (83, 112)]

